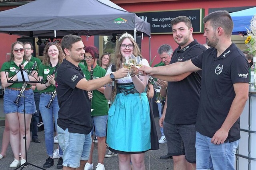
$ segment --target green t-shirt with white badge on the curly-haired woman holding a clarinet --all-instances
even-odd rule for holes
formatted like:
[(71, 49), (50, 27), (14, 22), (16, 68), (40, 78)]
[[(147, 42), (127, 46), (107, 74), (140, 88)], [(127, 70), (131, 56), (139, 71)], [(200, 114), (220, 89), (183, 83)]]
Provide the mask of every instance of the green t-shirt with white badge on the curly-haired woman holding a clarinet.
[[(56, 66), (58, 66), (58, 64)], [(38, 75), (43, 77), (43, 79), (44, 79), (43, 84), (47, 83), (47, 75), (51, 75), (53, 73), (53, 71), (56, 70), (56, 66), (54, 66), (52, 68), (52, 66), (50, 66), (50, 65), (40, 64), (39, 70), (38, 70)], [(56, 78), (56, 72), (55, 72), (55, 78)], [(56, 89), (56, 87), (51, 84), (48, 88), (41, 90), (40, 93), (54, 92), (55, 89)]]

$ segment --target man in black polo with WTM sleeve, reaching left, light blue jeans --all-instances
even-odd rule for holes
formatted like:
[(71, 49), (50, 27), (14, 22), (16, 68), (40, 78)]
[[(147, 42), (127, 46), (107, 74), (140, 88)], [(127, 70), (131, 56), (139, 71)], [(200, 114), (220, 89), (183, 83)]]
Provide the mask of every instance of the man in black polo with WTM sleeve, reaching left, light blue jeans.
[[(227, 11), (204, 18), (207, 49), (187, 62), (141, 69), (169, 80), (185, 72), (202, 70), (202, 88), (196, 119), (196, 168), (234, 170), (240, 141), (240, 115), (248, 99), (249, 64), (231, 41), (233, 21)], [(156, 76), (158, 77), (158, 76)], [(169, 89), (168, 89), (169, 90)]]

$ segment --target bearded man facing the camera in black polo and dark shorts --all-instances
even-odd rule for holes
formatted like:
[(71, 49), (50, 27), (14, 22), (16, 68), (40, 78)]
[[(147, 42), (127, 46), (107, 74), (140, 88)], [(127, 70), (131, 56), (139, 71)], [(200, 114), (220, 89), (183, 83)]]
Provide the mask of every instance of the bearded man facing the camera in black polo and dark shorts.
[[(176, 17), (171, 24), (173, 38), (179, 46), (174, 50), (170, 64), (186, 62), (206, 50), (193, 39), (193, 27), (188, 17)], [(194, 127), (201, 89), (200, 72), (188, 72), (168, 81), (166, 103), (159, 124), (164, 127), (168, 155), (173, 157), (174, 170), (196, 168)]]

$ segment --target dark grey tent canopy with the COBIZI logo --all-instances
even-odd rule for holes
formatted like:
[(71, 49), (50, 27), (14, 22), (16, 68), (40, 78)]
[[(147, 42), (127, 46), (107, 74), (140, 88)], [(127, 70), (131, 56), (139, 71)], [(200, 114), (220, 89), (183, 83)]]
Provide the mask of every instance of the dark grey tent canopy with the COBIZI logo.
[(26, 37), (112, 35), (124, 31), (150, 36), (150, 23), (109, 0), (36, 0), (0, 12), (0, 32)]

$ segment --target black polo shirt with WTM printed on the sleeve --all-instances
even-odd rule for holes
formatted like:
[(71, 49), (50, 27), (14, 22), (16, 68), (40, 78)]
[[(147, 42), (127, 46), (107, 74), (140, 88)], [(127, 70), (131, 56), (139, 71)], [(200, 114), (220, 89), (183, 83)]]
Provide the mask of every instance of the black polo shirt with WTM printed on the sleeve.
[[(217, 57), (217, 50), (207, 49), (192, 63), (202, 68), (201, 98), (196, 131), (212, 138), (220, 129), (236, 96), (233, 84), (249, 82), (249, 64), (234, 43)], [(240, 118), (231, 127), (225, 142), (240, 139)]]

